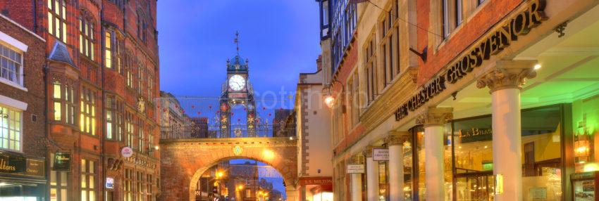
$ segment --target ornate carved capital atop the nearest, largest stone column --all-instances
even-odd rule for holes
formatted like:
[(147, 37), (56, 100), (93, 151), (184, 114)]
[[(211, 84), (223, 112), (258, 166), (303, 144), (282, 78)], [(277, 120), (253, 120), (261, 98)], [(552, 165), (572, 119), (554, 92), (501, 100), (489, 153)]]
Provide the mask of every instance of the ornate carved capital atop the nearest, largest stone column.
[(490, 93), (500, 89), (522, 89), (526, 79), (536, 77), (536, 60), (498, 60), (495, 67), (476, 79), (476, 87), (489, 87)]

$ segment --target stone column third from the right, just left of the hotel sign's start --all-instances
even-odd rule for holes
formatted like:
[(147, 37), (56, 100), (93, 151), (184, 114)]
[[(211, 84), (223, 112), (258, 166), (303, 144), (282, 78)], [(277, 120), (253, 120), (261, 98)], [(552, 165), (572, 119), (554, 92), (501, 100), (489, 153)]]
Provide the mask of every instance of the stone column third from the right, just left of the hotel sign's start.
[(389, 200), (404, 200), (404, 153), (403, 145), (407, 132), (389, 132), (385, 143), (389, 148)]

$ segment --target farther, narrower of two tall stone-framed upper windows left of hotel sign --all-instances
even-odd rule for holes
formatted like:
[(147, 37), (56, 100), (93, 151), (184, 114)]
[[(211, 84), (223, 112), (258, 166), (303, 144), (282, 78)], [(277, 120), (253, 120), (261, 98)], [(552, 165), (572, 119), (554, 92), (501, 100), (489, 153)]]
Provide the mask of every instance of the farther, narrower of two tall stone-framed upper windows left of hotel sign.
[(369, 41), (369, 43), (366, 45), (366, 49), (364, 50), (364, 53), (366, 54), (364, 56), (365, 59), (365, 64), (364, 66), (366, 67), (366, 91), (368, 94), (368, 101), (367, 103), (371, 103), (372, 100), (374, 100), (376, 93), (377, 93), (377, 89), (378, 87), (376, 87), (376, 56), (375, 56), (375, 50), (374, 48), (375, 46), (375, 40), (374, 40), (374, 35), (371, 37), (371, 40)]

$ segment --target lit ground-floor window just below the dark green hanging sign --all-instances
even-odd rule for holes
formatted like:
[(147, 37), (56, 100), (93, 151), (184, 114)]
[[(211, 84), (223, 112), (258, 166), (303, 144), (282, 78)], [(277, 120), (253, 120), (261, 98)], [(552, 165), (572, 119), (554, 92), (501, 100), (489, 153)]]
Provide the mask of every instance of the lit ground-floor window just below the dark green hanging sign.
[[(50, 154), (54, 158), (54, 153)], [(50, 161), (50, 169), (54, 167), (54, 160)], [(50, 201), (68, 201), (68, 172), (50, 171)]]

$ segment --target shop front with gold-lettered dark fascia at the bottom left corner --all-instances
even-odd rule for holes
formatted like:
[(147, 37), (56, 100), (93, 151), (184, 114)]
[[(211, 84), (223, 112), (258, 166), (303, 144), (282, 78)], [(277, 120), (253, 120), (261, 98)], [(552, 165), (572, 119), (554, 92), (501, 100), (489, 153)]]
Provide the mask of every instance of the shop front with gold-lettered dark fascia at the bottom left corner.
[(0, 200), (39, 201), (47, 192), (44, 159), (0, 152)]

